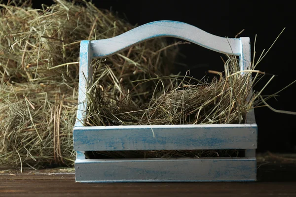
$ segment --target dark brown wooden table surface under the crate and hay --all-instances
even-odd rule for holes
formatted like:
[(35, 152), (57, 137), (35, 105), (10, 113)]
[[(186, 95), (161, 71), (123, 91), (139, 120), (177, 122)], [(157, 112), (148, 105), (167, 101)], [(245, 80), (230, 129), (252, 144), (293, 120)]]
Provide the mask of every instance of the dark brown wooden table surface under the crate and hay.
[(75, 183), (73, 168), (0, 169), (0, 197), (296, 197), (293, 157), (258, 156), (258, 181), (241, 183)]

